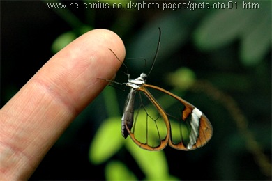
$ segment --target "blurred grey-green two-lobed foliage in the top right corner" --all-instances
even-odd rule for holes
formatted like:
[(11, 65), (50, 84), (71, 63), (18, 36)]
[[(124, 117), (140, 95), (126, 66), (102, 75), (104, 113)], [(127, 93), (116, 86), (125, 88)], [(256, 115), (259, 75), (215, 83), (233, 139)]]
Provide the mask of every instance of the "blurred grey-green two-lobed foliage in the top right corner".
[[(271, 1), (260, 1), (258, 5), (258, 9), (216, 10), (195, 31), (195, 44), (211, 51), (241, 38), (243, 65), (256, 65), (271, 49)], [(237, 7), (241, 6), (238, 3)]]

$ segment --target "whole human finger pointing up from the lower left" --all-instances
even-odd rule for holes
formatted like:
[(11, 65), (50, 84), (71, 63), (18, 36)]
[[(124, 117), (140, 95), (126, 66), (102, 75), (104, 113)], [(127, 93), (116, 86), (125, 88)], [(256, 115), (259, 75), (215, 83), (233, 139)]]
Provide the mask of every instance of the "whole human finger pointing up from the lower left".
[[(96, 29), (50, 58), (0, 110), (0, 180), (27, 180), (123, 61), (119, 36)], [(54, 164), (54, 163), (52, 163)]]

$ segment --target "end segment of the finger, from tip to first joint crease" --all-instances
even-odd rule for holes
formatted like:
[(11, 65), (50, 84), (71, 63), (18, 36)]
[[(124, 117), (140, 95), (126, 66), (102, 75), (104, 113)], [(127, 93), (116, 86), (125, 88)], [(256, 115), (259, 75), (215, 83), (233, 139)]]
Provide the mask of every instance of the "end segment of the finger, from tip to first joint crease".
[(109, 49), (123, 61), (126, 50), (121, 38), (113, 31), (94, 29), (53, 56), (36, 77), (47, 85), (56, 85), (61, 99), (81, 110), (107, 85), (106, 81), (98, 78), (112, 79), (121, 66)]

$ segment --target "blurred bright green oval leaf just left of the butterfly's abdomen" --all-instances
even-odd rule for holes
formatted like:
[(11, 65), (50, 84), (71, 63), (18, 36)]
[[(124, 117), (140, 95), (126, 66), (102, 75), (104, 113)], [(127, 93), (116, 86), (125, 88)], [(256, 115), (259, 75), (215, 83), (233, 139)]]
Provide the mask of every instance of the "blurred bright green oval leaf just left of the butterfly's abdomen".
[(123, 145), (121, 136), (121, 118), (109, 118), (99, 127), (89, 150), (89, 159), (93, 164), (101, 164), (112, 157)]

